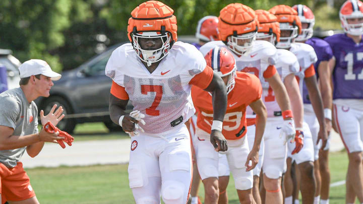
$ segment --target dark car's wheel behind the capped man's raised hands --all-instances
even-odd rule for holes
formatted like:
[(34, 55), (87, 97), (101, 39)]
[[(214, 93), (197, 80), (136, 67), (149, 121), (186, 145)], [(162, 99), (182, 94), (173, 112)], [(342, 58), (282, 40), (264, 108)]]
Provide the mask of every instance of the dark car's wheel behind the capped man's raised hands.
[[(71, 106), (68, 101), (60, 96), (53, 96), (44, 101), (42, 105), (42, 109), (44, 110), (44, 115), (48, 114), (53, 105), (56, 104), (58, 108), (59, 106), (63, 107), (63, 114), (69, 115), (73, 113)], [(63, 131), (68, 133), (72, 133), (74, 128), (76, 127), (76, 120), (74, 118), (63, 118), (58, 122), (57, 127)]]

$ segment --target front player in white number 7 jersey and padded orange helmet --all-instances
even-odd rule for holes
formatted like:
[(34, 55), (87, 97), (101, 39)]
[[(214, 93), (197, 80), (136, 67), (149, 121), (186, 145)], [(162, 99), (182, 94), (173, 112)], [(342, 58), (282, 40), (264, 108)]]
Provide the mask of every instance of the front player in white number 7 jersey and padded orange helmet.
[[(186, 203), (192, 178), (190, 135), (184, 124), (194, 113), (192, 85), (212, 92), (211, 142), (226, 151), (221, 133), (226, 110), (223, 80), (191, 44), (178, 42), (173, 10), (158, 1), (131, 13), (131, 43), (116, 48), (106, 65), (112, 79), (110, 117), (129, 132), (129, 184), (136, 203)], [(132, 100), (134, 111), (125, 112)], [(218, 100), (217, 100), (218, 99)]]

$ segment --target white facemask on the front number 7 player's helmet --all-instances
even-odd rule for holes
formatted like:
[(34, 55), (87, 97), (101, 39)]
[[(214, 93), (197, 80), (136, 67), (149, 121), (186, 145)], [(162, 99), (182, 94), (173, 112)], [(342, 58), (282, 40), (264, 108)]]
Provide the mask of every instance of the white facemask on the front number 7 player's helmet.
[[(134, 49), (139, 56), (139, 58), (146, 62), (148, 66), (150, 66), (154, 62), (158, 62), (163, 59), (169, 52), (170, 49), (170, 41), (171, 35), (168, 32), (164, 32), (164, 34), (158, 34), (158, 32), (147, 31), (147, 32), (134, 32), (132, 35), (133, 38), (133, 46)], [(161, 47), (154, 50), (143, 49), (140, 45), (141, 38), (154, 38), (157, 40), (159, 38), (162, 42)]]

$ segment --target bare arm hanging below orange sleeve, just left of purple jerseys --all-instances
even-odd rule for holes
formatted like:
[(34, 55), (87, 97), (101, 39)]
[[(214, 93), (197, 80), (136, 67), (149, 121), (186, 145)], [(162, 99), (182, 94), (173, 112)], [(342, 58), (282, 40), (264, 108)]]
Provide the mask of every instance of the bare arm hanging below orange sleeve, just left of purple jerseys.
[(325, 130), (323, 100), (320, 95), (315, 76), (305, 78), (305, 83), (307, 85), (309, 98), (312, 103), (314, 113), (318, 118), (320, 128)]

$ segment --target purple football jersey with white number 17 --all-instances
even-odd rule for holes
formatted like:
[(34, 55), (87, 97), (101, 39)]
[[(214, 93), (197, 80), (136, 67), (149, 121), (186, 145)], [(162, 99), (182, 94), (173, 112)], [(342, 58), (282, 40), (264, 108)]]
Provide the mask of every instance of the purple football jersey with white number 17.
[(344, 33), (325, 38), (335, 56), (333, 99), (363, 99), (363, 42)]

